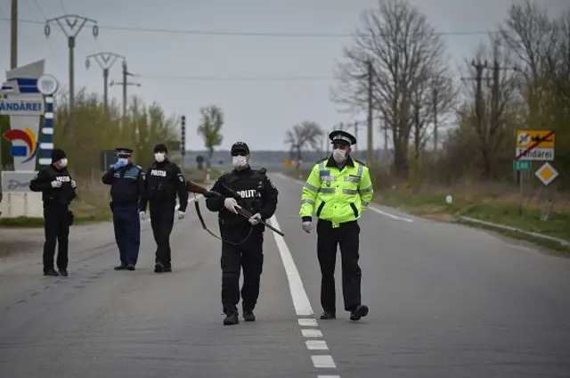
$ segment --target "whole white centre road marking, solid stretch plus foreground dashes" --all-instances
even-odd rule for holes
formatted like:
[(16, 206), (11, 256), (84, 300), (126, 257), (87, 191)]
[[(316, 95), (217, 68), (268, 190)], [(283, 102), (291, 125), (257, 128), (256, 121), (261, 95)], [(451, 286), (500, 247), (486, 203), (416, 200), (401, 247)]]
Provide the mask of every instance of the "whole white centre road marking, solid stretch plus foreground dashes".
[[(268, 219), (269, 223), (275, 228), (281, 229), (277, 218), (273, 215), (272, 218)], [(297, 316), (310, 316), (313, 315), (313, 308), (311, 308), (311, 302), (309, 297), (306, 295), (305, 287), (303, 286), (303, 281), (301, 280), (301, 275), (297, 270), (291, 251), (285, 242), (285, 239), (279, 235), (273, 233), (275, 238), (275, 243), (277, 244), (277, 249), (281, 254), (281, 261), (283, 262), (283, 267), (285, 267), (285, 273), (287, 274), (287, 280), (289, 281), (289, 291), (291, 292), (291, 299), (293, 300), (293, 306), (297, 312)], [(322, 332), (318, 328), (317, 319), (314, 317), (300, 317), (297, 319), (298, 324), (301, 327), (317, 327), (317, 328), (301, 328), (301, 334), (305, 338), (322, 338)], [(324, 340), (306, 340), (306, 349), (308, 350), (329, 350), (327, 342)], [(313, 355), (311, 356), (313, 361), (313, 366), (316, 368), (336, 368), (334, 360), (329, 355)], [(317, 378), (340, 378), (340, 375), (318, 375)]]

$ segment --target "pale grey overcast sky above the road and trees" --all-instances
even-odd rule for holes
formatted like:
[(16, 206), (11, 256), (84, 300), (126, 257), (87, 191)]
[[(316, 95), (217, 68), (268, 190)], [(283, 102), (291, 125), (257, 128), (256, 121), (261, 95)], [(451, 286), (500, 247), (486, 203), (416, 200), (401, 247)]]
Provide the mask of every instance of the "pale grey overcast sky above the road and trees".
[[(517, 3), (517, 1), (514, 1)], [(0, 18), (10, 17), (10, 0), (0, 0)], [(503, 20), (511, 0), (411, 0), (443, 32), (481, 32)], [(550, 12), (570, 7), (570, 0), (541, 0)], [(145, 102), (158, 102), (167, 112), (187, 118), (187, 148), (202, 148), (196, 135), (199, 107), (216, 104), (224, 110), (224, 144), (243, 139), (251, 149), (287, 149), (285, 131), (304, 120), (325, 129), (352, 120), (330, 102), (335, 59), (354, 31), (359, 14), (375, 0), (20, 0), (20, 20), (45, 21), (65, 13), (98, 21), (94, 39), (91, 25), (77, 37), (76, 89), (86, 86), (102, 94), (102, 70), (95, 64), (85, 70), (85, 56), (98, 52), (126, 56), (129, 70), (142, 86), (129, 86)], [(336, 37), (279, 37), (197, 35), (141, 30), (192, 29), (246, 33), (330, 33)], [(338, 36), (340, 35), (340, 36)], [(0, 68), (10, 65), (10, 23), (0, 21)], [(446, 36), (452, 59), (472, 54), (486, 37)], [(19, 64), (46, 60), (46, 70), (68, 84), (67, 41), (53, 24), (49, 38), (44, 25), (20, 23)], [(202, 80), (184, 77), (208, 78)], [(248, 78), (307, 78), (301, 81), (255, 81)], [(311, 78), (311, 79), (308, 79)], [(120, 64), (111, 70), (120, 81)], [(120, 99), (121, 87), (111, 86), (110, 96)], [(365, 114), (359, 115), (365, 119)], [(361, 145), (366, 144), (360, 133)], [(383, 144), (379, 133), (376, 146)]]

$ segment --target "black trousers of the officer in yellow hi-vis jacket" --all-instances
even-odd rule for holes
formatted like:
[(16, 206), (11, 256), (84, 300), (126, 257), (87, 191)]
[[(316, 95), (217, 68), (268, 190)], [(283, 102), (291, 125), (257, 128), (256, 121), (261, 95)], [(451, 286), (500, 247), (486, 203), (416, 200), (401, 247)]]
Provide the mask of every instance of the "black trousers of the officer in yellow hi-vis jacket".
[(346, 311), (353, 311), (361, 304), (362, 270), (358, 265), (360, 255), (360, 226), (357, 221), (346, 222), (333, 228), (330, 222), (317, 223), (317, 255), (321, 265), (321, 305), (325, 311), (336, 312), (335, 264), (337, 245), (340, 245), (342, 263), (342, 292)]

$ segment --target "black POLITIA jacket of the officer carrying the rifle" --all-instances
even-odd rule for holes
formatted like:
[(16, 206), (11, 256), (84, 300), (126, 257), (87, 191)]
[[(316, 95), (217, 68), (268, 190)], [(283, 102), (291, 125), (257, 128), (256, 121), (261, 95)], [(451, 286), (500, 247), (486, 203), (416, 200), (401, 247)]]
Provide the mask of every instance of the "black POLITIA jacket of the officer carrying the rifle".
[(248, 210), (251, 214), (259, 213), (263, 220), (273, 217), (275, 210), (277, 210), (279, 192), (271, 180), (265, 176), (265, 168), (259, 170), (249, 167), (243, 170), (234, 169), (218, 178), (210, 190), (222, 194), (219, 197), (206, 200), (208, 210), (219, 211), (218, 220), (222, 230), (225, 228), (224, 226), (249, 225), (247, 218), (225, 209), (225, 198), (235, 198), (243, 209)]

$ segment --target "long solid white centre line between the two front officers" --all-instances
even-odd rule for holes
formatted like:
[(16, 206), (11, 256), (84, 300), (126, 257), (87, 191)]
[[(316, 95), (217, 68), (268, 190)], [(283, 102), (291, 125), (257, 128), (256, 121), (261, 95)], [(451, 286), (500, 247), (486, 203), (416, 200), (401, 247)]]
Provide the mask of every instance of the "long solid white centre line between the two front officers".
[[(280, 229), (279, 222), (277, 218), (273, 215), (272, 218), (268, 219), (271, 226)], [(285, 239), (279, 234), (272, 233), (275, 238), (275, 243), (277, 244), (277, 249), (281, 254), (281, 260), (283, 261), (283, 267), (285, 267), (285, 273), (287, 273), (287, 280), (289, 281), (289, 291), (291, 292), (291, 299), (293, 300), (293, 306), (297, 315), (313, 315), (313, 308), (311, 307), (311, 302), (309, 302), (309, 297), (306, 295), (305, 287), (303, 286), (303, 281), (301, 280), (301, 275), (297, 270), (295, 261), (291, 256), (291, 251), (287, 247)]]

